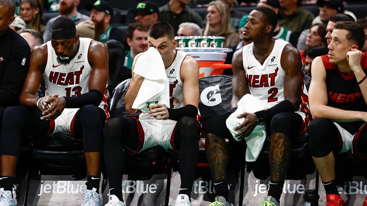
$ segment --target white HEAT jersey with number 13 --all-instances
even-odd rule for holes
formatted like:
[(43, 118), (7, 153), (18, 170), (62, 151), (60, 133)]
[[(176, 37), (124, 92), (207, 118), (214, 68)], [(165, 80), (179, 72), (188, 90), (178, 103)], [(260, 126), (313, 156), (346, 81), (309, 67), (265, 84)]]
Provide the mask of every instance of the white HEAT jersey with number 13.
[[(47, 42), (47, 65), (43, 72), (46, 95), (73, 97), (89, 91), (88, 83), (92, 67), (88, 62), (88, 50), (91, 41), (91, 38), (79, 38), (79, 50), (67, 65), (58, 63), (51, 41)], [(105, 95), (99, 107), (108, 114)]]

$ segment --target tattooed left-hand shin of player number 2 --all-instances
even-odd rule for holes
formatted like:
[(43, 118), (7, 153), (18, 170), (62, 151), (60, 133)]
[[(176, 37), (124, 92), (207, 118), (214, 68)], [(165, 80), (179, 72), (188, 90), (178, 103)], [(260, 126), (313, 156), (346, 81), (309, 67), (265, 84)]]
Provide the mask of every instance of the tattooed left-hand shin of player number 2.
[(214, 181), (227, 178), (228, 152), (225, 140), (213, 134), (207, 134), (206, 155), (211, 176)]

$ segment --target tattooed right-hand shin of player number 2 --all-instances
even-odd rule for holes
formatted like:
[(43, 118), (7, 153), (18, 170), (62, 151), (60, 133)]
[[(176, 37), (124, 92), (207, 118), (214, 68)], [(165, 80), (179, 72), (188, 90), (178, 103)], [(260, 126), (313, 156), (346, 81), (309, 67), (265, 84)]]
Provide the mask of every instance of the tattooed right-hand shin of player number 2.
[(270, 180), (280, 182), (286, 179), (290, 153), (290, 138), (285, 134), (273, 133), (269, 150)]

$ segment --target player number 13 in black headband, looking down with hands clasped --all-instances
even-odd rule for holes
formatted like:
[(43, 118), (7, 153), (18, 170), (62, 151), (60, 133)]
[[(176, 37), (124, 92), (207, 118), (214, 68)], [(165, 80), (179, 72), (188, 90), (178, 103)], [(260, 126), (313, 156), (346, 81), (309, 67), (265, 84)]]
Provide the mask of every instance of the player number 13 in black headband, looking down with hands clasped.
[[(37, 98), (41, 76), (46, 95)], [(19, 97), (22, 106), (8, 107), (0, 134), (0, 205), (15, 206), (12, 188), (23, 134), (37, 141), (57, 132), (83, 140), (87, 190), (83, 206), (100, 206), (103, 124), (108, 117), (105, 85), (108, 51), (103, 43), (79, 38), (73, 20), (61, 16), (51, 27), (51, 41), (33, 49)]]

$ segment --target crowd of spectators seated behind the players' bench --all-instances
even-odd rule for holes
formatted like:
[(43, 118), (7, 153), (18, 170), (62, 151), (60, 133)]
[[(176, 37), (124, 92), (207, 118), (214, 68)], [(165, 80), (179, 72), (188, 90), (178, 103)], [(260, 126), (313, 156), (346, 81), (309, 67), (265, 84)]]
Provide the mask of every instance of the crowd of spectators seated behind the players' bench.
[[(316, 56), (327, 54), (328, 39), (337, 21), (357, 21), (366, 34), (367, 1), (341, 0), (14, 0), (17, 18), (10, 27), (32, 50), (51, 40), (52, 22), (66, 16), (76, 23), (81, 37), (104, 42), (109, 48), (107, 89), (131, 78), (135, 56), (148, 49), (151, 25), (165, 21), (177, 36), (223, 36), (233, 51), (251, 42), (243, 40), (247, 15), (256, 7), (269, 7), (278, 15), (274, 38), (290, 42), (300, 51), (305, 74)], [(331, 30), (330, 30), (331, 29)], [(361, 49), (367, 51), (367, 44)], [(231, 63), (232, 53), (226, 63)], [(121, 56), (125, 58), (121, 58)]]

